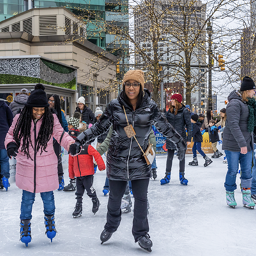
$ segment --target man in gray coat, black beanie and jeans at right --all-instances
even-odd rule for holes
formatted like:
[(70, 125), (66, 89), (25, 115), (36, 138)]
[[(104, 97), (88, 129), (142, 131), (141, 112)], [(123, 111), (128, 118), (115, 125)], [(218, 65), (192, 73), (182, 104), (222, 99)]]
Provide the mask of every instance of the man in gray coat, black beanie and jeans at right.
[(255, 84), (250, 77), (244, 77), (240, 92), (234, 90), (228, 96), (227, 121), (223, 131), (223, 145), (228, 161), (228, 172), (225, 180), (226, 200), (234, 208), (237, 203), (234, 197), (236, 175), (241, 166), (241, 188), (243, 188), (243, 205), (253, 209), (251, 198), (253, 129), (255, 127), (256, 102)]

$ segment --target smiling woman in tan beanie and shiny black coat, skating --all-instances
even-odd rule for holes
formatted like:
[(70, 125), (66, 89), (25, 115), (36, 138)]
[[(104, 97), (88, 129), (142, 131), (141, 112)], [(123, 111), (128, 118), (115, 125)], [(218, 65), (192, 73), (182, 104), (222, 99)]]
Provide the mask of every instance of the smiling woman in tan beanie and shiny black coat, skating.
[[(95, 125), (77, 137), (74, 146), (70, 146), (70, 153), (73, 156), (78, 154), (84, 143), (107, 131), (111, 124), (113, 124), (113, 134), (107, 156), (107, 175), (111, 189), (107, 223), (100, 239), (102, 243), (108, 241), (120, 225), (122, 196), (127, 180), (131, 180), (135, 200), (132, 234), (135, 242), (151, 251), (152, 241), (148, 235), (147, 219), (147, 190), (151, 165), (147, 164), (143, 152), (148, 147), (152, 125), (155, 125), (168, 140), (175, 143), (180, 161), (185, 156), (186, 142), (167, 122), (156, 102), (150, 100), (150, 92), (144, 89), (144, 73), (141, 70), (129, 70), (125, 74), (123, 91), (118, 99), (108, 104)], [(136, 136), (130, 138), (127, 136), (125, 127), (128, 125), (132, 125)]]

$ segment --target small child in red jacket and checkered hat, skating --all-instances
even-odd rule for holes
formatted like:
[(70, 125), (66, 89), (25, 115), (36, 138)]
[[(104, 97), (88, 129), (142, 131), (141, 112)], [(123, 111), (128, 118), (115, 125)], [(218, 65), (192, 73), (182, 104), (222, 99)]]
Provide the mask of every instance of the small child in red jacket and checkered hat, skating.
[[(70, 117), (68, 120), (69, 134), (72, 138), (76, 138), (79, 130), (76, 128), (79, 125), (79, 119)], [(83, 195), (84, 189), (87, 191), (87, 195), (92, 198), (92, 212), (95, 214), (99, 210), (100, 202), (97, 198), (95, 189), (93, 188), (93, 157), (99, 166), (99, 170), (106, 169), (105, 163), (100, 156), (99, 152), (95, 150), (91, 145), (86, 144), (81, 150), (78, 156), (69, 156), (68, 158), (68, 173), (70, 179), (76, 177), (76, 207), (73, 212), (73, 218), (82, 216), (83, 212)]]

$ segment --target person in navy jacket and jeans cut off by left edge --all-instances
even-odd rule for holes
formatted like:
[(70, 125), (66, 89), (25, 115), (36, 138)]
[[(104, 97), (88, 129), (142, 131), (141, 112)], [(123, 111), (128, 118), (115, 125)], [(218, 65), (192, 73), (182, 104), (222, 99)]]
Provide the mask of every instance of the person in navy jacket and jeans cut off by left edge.
[(6, 133), (9, 131), (9, 128), (12, 125), (13, 114), (12, 110), (3, 100), (0, 100), (0, 116), (0, 189), (5, 188), (7, 191), (8, 187), (10, 186), (8, 181), (10, 178), (10, 164), (6, 148), (4, 147), (4, 139)]

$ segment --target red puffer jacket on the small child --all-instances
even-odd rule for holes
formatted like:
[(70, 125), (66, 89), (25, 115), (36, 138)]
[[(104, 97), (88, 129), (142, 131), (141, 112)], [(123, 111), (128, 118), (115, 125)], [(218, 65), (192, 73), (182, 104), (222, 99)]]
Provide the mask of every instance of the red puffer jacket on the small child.
[(69, 155), (68, 172), (70, 179), (74, 179), (74, 177), (93, 175), (93, 157), (98, 164), (99, 170), (105, 170), (106, 166), (99, 152), (89, 144), (84, 145), (78, 156), (73, 157)]

